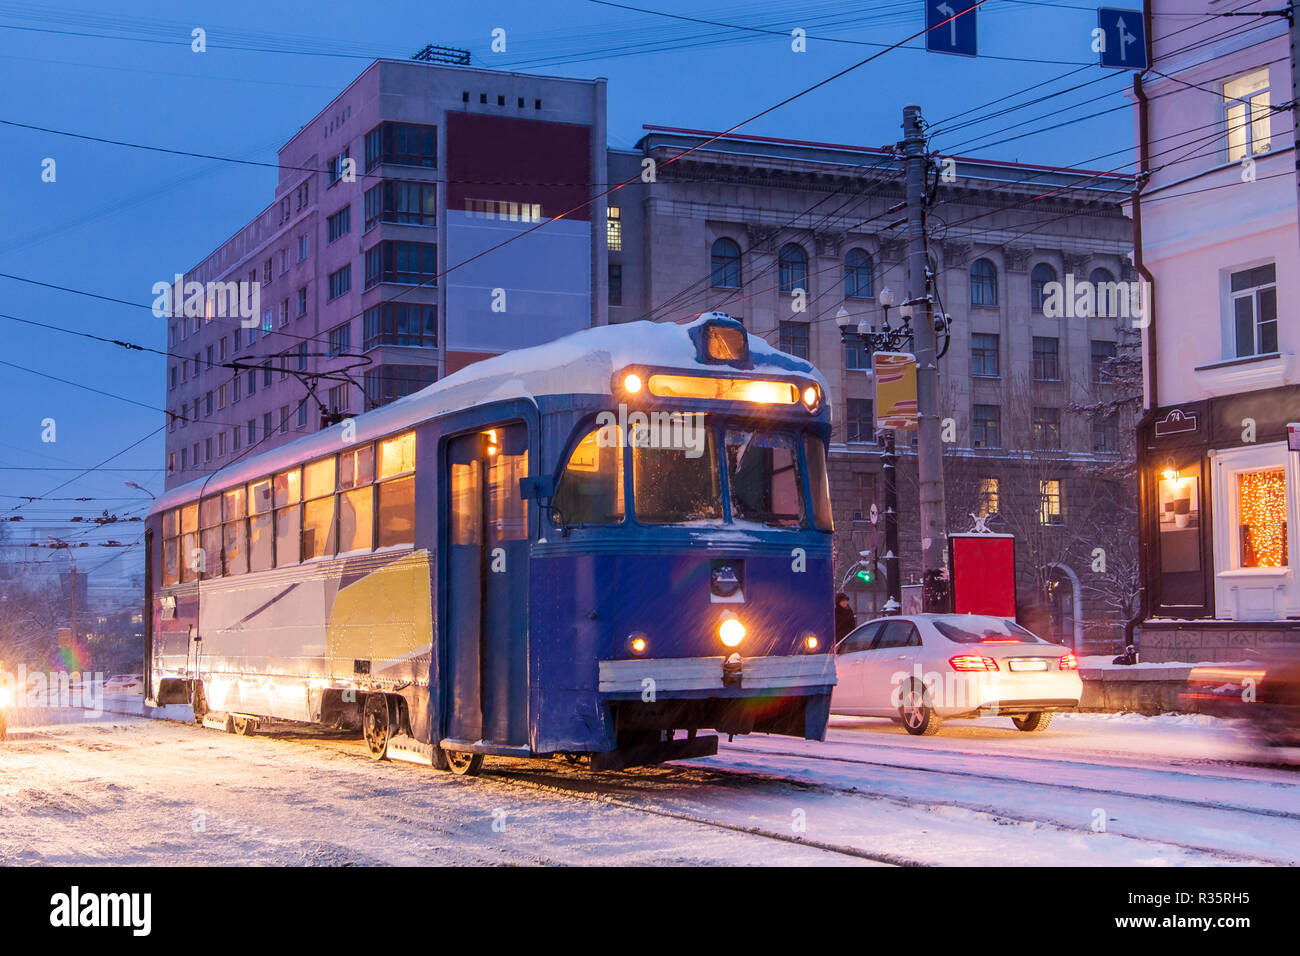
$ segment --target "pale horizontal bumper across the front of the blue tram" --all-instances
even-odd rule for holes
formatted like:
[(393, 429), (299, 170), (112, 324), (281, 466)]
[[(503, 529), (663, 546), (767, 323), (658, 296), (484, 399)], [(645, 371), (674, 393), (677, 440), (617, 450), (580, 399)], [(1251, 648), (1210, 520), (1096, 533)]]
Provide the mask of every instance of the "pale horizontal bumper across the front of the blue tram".
[(833, 654), (772, 657), (666, 657), (601, 661), (601, 695), (749, 696), (751, 692), (792, 695), (829, 693), (835, 687)]

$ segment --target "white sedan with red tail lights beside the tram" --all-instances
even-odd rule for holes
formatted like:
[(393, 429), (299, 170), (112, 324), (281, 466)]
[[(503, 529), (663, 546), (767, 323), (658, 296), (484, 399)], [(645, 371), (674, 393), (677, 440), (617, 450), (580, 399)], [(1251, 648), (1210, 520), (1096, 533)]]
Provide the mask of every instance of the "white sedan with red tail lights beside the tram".
[(1002, 715), (1041, 731), (1083, 696), (1072, 652), (974, 614), (871, 620), (840, 641), (835, 670), (831, 713), (889, 717), (918, 736), (954, 717)]

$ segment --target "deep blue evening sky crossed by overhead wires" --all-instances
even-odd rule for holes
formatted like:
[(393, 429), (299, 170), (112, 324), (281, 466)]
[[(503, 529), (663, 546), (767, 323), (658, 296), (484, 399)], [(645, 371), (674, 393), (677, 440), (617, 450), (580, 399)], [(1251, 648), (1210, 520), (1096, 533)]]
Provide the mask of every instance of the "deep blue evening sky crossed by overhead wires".
[[(923, 0), (629, 0), (628, 5), (780, 35), (670, 20), (592, 0), (114, 0), (98, 7), (86, 0), (75, 7), (0, 0), (0, 88), (5, 90), (0, 120), (273, 163), (276, 148), (360, 73), (368, 57), (407, 57), (425, 43), (437, 43), (469, 49), (476, 66), (608, 78), (608, 140), (630, 147), (642, 124), (731, 127), (880, 49), (866, 44), (890, 44), (923, 26)], [(1095, 57), (1089, 31), (1096, 14), (1086, 1), (988, 0), (979, 17), (978, 59), (892, 51), (745, 131), (883, 146), (898, 139), (904, 104), (919, 103), (927, 120), (940, 126), (935, 146), (945, 152), (958, 147), (957, 152), (967, 155), (1100, 169), (1130, 159), (1118, 153), (1086, 163), (1131, 144), (1126, 109), (1044, 129), (1126, 103), (1121, 91), (1127, 74), (1079, 66)], [(204, 53), (190, 48), (194, 27), (207, 31)], [(498, 27), (506, 31), (504, 52), (490, 49)], [(790, 48), (789, 31), (796, 27), (806, 30), (806, 52)], [(1063, 77), (1070, 70), (1078, 72)], [(998, 108), (1097, 82), (942, 135), (944, 124), (937, 121), (956, 116), (952, 122), (959, 122), (972, 108), (1058, 77)], [(1100, 99), (1084, 103), (1092, 98)], [(1032, 122), (997, 133), (1022, 121)], [(994, 144), (1024, 133), (1030, 135)], [(0, 156), (9, 170), (8, 187), (0, 193), (0, 221), (8, 226), (0, 234), (0, 272), (142, 306), (0, 278), (0, 312), (156, 349), (164, 349), (165, 341), (161, 320), (147, 308), (153, 282), (183, 272), (242, 226), (269, 203), (276, 181), (270, 168), (4, 125)], [(42, 182), (46, 157), (57, 163), (53, 183)], [(144, 406), (165, 403), (161, 356), (12, 319), (0, 319), (0, 328), (8, 345), (4, 360)], [(75, 473), (47, 468), (95, 464), (164, 423), (161, 412), (8, 365), (0, 365), (0, 408), (4, 496), (47, 493)], [(42, 441), (47, 418), (57, 427), (52, 444)], [(103, 501), (38, 503), (14, 514), (66, 518), (138, 507), (148, 499), (124, 481), (157, 492), (161, 466), (160, 433), (112, 462), (112, 467), (136, 471), (100, 472), (56, 492)], [(13, 497), (0, 498), (0, 512), (9, 516), (17, 503)], [(138, 528), (122, 525), (83, 537), (134, 540)], [(112, 557), (98, 548), (87, 551), (84, 566)], [(138, 564), (133, 555), (116, 563)]]

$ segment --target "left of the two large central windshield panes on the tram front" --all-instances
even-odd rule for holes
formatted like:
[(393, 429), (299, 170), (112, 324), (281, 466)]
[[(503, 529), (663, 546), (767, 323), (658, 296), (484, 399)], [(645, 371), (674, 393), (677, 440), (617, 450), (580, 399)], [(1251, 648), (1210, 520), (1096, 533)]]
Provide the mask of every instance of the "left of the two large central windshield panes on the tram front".
[[(694, 431), (698, 429), (698, 431)], [(722, 485), (712, 429), (694, 427), (702, 434), (698, 444), (659, 441), (653, 446), (630, 440), (632, 501), (637, 520), (644, 524), (685, 524), (722, 520)], [(653, 440), (653, 436), (651, 436)]]

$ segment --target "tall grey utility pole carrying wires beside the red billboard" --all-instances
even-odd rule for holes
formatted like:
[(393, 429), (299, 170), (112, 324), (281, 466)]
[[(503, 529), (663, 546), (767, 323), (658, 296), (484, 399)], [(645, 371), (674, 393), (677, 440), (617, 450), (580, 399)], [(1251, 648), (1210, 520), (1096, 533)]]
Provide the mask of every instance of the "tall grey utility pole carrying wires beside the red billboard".
[(923, 609), (948, 610), (948, 535), (944, 520), (944, 457), (939, 433), (939, 365), (935, 310), (926, 251), (926, 179), (930, 163), (920, 107), (902, 108), (907, 186), (907, 299), (916, 321), (916, 479), (920, 488), (920, 570)]

